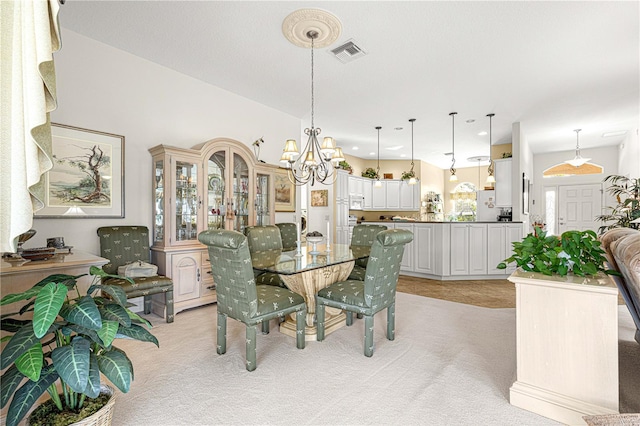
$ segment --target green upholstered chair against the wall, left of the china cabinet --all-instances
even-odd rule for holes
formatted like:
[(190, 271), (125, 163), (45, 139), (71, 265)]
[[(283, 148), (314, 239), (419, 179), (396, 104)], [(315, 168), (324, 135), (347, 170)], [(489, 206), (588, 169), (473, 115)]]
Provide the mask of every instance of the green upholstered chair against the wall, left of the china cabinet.
[[(100, 256), (109, 259), (102, 269), (111, 275), (118, 274), (118, 267), (129, 263), (150, 262), (149, 229), (146, 226), (103, 226), (98, 228)], [(109, 285), (120, 286), (127, 299), (144, 297), (144, 313), (151, 313), (151, 297), (164, 294), (167, 322), (173, 322), (173, 281), (163, 275), (125, 279), (106, 278)]]

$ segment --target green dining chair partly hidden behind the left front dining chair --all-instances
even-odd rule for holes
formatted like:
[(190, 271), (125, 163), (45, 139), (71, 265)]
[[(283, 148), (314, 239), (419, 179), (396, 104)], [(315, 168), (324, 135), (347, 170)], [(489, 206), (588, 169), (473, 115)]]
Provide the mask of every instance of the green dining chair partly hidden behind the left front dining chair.
[[(269, 266), (282, 254), (282, 238), (280, 229), (275, 225), (247, 226), (244, 229), (254, 266)], [(271, 259), (273, 261), (271, 261)], [(266, 263), (265, 263), (266, 262)], [(286, 288), (278, 274), (254, 270), (256, 284), (276, 285)]]

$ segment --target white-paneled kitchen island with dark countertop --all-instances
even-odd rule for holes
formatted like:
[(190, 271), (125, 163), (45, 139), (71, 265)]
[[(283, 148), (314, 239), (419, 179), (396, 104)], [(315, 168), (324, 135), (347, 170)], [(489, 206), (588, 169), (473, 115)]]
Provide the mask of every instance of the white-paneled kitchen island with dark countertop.
[(436, 280), (506, 279), (514, 270), (496, 266), (524, 236), (522, 222), (364, 221), (413, 232), (400, 271)]

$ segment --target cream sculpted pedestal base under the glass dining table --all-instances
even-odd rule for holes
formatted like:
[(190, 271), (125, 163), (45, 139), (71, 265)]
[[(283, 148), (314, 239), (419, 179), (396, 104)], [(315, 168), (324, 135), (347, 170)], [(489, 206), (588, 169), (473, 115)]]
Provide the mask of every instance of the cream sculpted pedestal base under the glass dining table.
[[(280, 275), (282, 281), (291, 290), (304, 297), (307, 303), (307, 326), (305, 341), (316, 340), (316, 293), (331, 284), (344, 281), (349, 277), (355, 262), (339, 263), (324, 268), (312, 269), (293, 275)], [(336, 308), (325, 308), (325, 335), (346, 324), (346, 315)], [(292, 316), (280, 324), (280, 332), (287, 336), (296, 337), (296, 323)]]

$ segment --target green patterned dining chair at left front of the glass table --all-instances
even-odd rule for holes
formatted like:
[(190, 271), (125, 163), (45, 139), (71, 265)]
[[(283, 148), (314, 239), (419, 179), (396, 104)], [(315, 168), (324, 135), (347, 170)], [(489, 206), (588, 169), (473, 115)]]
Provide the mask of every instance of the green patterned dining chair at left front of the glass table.
[[(256, 285), (247, 237), (236, 231), (211, 230), (198, 235), (209, 249), (211, 272), (218, 297), (217, 352), (227, 351), (227, 317), (246, 325), (247, 370), (256, 369), (256, 328), (268, 332), (269, 321), (295, 313), (296, 346), (304, 349), (307, 305), (286, 288)], [(265, 327), (266, 324), (266, 327)]]

